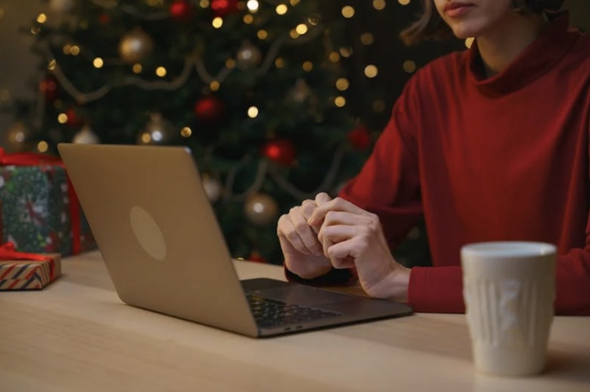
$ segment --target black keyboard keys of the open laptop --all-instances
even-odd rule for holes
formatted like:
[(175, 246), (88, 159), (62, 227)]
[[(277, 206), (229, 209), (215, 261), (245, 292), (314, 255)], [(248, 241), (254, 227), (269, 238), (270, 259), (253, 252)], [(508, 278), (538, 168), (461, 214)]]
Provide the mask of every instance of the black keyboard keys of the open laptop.
[(258, 295), (246, 295), (252, 314), (260, 327), (279, 326), (288, 323), (325, 319), (342, 315), (318, 308), (308, 308), (287, 302), (276, 301)]

